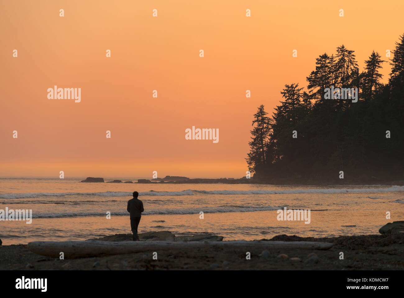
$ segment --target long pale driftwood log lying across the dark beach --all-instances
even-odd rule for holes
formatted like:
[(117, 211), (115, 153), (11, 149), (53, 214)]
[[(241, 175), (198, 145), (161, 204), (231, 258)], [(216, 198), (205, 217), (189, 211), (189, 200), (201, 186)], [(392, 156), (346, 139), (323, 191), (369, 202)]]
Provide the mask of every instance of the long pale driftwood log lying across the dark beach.
[(162, 251), (170, 249), (197, 249), (201, 247), (252, 247), (262, 249), (296, 248), (296, 249), (330, 249), (332, 243), (311, 241), (218, 241), (218, 242), (175, 242), (175, 241), (33, 241), (28, 249), (38, 255), (59, 258), (86, 258), (142, 251)]

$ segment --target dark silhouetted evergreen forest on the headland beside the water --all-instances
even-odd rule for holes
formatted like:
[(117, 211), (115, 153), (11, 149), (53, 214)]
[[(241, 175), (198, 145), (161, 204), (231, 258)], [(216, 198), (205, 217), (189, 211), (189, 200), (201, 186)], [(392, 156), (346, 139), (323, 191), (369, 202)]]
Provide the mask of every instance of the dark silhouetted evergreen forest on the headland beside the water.
[[(386, 56), (383, 60), (373, 51), (360, 72), (354, 51), (342, 45), (335, 54), (316, 58), (307, 91), (299, 83), (285, 85), (272, 117), (259, 106), (246, 158), (254, 179), (269, 183), (404, 180), (404, 34), (391, 58)], [(383, 84), (380, 70), (387, 63), (391, 73)], [(332, 86), (335, 94), (330, 98), (326, 88)], [(337, 88), (357, 90), (357, 102), (346, 98), (346, 93), (344, 98)]]

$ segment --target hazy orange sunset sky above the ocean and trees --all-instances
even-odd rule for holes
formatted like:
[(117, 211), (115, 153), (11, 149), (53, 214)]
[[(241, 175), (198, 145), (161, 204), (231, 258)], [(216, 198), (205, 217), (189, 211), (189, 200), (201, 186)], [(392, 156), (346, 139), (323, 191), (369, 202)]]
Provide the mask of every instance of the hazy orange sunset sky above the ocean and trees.
[[(1, 0), (0, 176), (243, 177), (257, 107), (271, 115), (282, 87), (305, 87), (339, 45), (360, 71), (372, 50), (387, 60), (403, 11), (402, 0)], [(81, 102), (48, 99), (54, 85), (80, 87)], [(219, 128), (219, 143), (185, 140), (192, 126)]]

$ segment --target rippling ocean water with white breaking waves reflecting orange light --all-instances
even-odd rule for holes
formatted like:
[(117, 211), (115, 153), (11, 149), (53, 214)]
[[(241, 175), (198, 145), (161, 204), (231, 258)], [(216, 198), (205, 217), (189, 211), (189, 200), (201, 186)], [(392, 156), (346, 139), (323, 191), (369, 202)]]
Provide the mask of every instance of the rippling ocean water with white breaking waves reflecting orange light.
[[(387, 222), (404, 219), (404, 186), (78, 182), (83, 179), (0, 178), (0, 209), (32, 209), (33, 217), (31, 224), (0, 221), (3, 245), (130, 233), (126, 204), (133, 191), (139, 192), (145, 208), (139, 233), (214, 233), (223, 240), (280, 234), (326, 237), (378, 234)], [(114, 179), (137, 181), (105, 181)], [(309, 209), (310, 223), (278, 220), (277, 210), (285, 206)], [(386, 212), (391, 219), (386, 219)]]

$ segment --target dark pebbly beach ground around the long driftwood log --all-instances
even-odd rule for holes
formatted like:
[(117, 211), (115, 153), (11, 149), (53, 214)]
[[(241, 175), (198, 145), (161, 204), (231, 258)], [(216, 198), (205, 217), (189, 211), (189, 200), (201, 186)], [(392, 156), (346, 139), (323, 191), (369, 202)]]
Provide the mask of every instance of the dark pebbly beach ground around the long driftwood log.
[[(168, 233), (168, 232), (167, 232)], [(147, 234), (147, 233), (145, 233)], [(144, 234), (143, 234), (144, 235)], [(144, 236), (140, 234), (141, 239)], [(131, 234), (99, 240), (127, 241)], [(204, 241), (203, 239), (201, 241)], [(403, 270), (404, 234), (378, 234), (312, 238), (279, 235), (264, 241), (328, 242), (328, 250), (268, 249), (263, 247), (214, 247), (192, 250), (156, 249), (140, 253), (59, 260), (37, 255), (27, 245), (0, 246), (0, 270)], [(257, 243), (257, 241), (249, 241)], [(264, 249), (265, 250), (265, 249)], [(157, 251), (158, 259), (153, 259)], [(246, 252), (251, 258), (246, 260)], [(340, 260), (340, 253), (344, 260)], [(316, 256), (310, 255), (315, 253)], [(283, 258), (278, 257), (283, 255)], [(287, 255), (287, 257), (285, 256)], [(297, 259), (298, 258), (298, 259)]]

